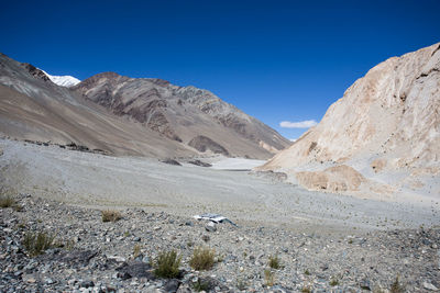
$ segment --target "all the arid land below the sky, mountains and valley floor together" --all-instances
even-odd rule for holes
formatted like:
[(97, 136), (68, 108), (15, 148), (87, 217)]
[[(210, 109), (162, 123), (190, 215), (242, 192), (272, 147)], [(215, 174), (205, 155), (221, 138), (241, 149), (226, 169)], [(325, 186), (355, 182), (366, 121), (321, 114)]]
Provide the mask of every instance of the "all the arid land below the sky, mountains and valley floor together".
[(439, 291), (439, 66), (380, 64), (290, 144), (207, 90), (0, 55), (0, 292)]

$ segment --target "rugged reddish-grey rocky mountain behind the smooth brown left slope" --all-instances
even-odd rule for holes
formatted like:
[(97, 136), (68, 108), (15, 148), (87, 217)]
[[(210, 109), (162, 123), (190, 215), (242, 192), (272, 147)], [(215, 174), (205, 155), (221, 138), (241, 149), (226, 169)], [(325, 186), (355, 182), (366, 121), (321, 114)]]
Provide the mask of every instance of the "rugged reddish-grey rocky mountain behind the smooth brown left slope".
[[(168, 139), (191, 147), (197, 145), (199, 151), (211, 150), (216, 144), (217, 150), (223, 149), (222, 154), (267, 158), (289, 145), (287, 139), (256, 119), (213, 93), (195, 87), (177, 87), (162, 79), (129, 78), (105, 72), (72, 89)], [(204, 143), (206, 145), (201, 145)]]

